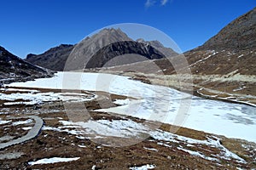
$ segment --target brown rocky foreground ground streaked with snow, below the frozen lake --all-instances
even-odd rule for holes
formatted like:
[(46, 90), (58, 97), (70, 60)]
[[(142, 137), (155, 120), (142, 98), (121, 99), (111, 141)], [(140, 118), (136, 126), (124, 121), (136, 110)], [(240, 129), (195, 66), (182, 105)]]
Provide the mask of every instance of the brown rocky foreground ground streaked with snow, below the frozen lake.
[[(22, 88), (23, 90), (32, 90)], [(59, 93), (58, 90), (34, 89)], [(20, 93), (11, 89), (2, 93)], [(83, 92), (93, 94), (94, 92)], [(96, 93), (85, 101), (88, 122), (73, 122), (65, 102), (40, 105), (3, 105), (0, 109), (0, 141), (5, 144), (29, 133), (38, 116), (44, 126), (35, 138), (0, 150), (1, 169), (252, 169), (256, 145), (210, 133), (148, 122), (131, 116), (96, 111), (113, 107), (125, 96)], [(70, 102), (70, 101), (69, 101)], [(101, 105), (99, 105), (101, 104)], [(76, 105), (73, 103), (72, 105)], [(83, 116), (84, 117), (84, 116)], [(97, 126), (95, 126), (97, 125)], [(115, 133), (113, 133), (115, 132)], [(55, 162), (63, 158), (73, 159)], [(42, 159), (45, 164), (42, 164)], [(38, 162), (41, 161), (41, 164)]]

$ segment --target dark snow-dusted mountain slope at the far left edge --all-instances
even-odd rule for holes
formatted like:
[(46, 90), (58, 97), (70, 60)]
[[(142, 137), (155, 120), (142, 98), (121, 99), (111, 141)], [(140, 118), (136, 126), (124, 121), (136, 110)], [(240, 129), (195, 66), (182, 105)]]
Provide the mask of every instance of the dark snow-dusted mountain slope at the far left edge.
[(32, 65), (0, 46), (0, 84), (53, 76), (53, 72)]

